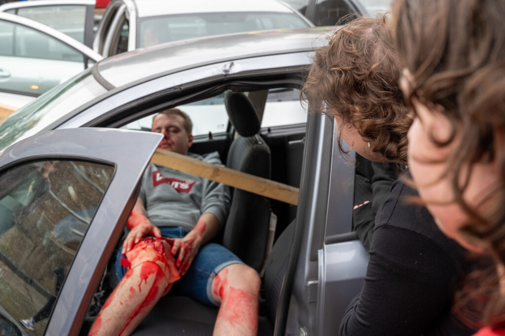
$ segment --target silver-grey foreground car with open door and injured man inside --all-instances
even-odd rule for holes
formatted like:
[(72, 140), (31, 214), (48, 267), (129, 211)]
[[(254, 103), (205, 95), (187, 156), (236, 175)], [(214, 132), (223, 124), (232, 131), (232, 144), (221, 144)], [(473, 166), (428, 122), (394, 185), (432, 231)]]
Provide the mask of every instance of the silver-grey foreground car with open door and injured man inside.
[[(299, 93), (325, 32), (230, 34), (118, 55), (5, 119), (0, 125), (0, 306), (22, 319), (56, 297), (51, 317), (37, 323), (32, 334), (86, 334), (98, 303), (111, 291), (111, 258), (138, 181), (158, 155), (153, 153), (161, 135), (133, 131), (138, 120), (170, 107), (211, 106), (225, 92), (225, 98), (232, 95), (228, 92), (244, 94), (255, 107), (227, 115), (243, 118), (252, 111), (261, 120), (267, 104)], [(199, 118), (192, 117), (197, 125)], [(270, 154), (261, 163), (251, 160), (252, 170), (266, 171), (267, 181), (285, 183), (292, 191), (299, 187), (298, 206), (264, 196), (256, 203), (234, 200), (232, 213), (235, 207), (246, 218), (233, 220), (230, 214), (220, 238), (247, 264), (264, 270), (261, 335), (335, 334), (361, 290), (368, 262), (351, 231), (354, 167), (338, 153), (334, 121), (313, 113), (306, 118), (307, 123), (255, 129), (244, 141)], [(226, 127), (195, 135), (191, 151), (218, 151), (229, 167), (242, 169), (228, 159), (246, 155), (233, 146), (244, 136), (228, 119), (219, 122)], [(265, 209), (268, 216), (260, 216)], [(66, 275), (61, 290), (57, 270)], [(135, 334), (211, 334), (216, 315), (216, 308), (167, 296)]]

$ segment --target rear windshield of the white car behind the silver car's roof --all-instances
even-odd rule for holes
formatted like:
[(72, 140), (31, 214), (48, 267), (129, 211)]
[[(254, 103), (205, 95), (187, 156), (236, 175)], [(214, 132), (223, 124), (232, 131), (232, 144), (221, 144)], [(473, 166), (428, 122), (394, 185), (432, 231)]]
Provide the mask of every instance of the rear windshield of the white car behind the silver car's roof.
[(137, 45), (160, 43), (245, 31), (306, 28), (309, 24), (294, 13), (201, 13), (139, 19)]

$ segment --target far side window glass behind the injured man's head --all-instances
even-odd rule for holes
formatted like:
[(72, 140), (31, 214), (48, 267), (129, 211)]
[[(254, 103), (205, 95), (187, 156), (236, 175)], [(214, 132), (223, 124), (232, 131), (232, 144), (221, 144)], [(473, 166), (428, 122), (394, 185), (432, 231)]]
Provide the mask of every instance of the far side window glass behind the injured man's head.
[[(228, 125), (228, 114), (224, 106), (224, 93), (208, 99), (193, 102), (177, 107), (187, 113), (193, 122), (193, 135), (207, 135), (226, 132)], [(148, 116), (123, 128), (150, 131), (153, 124), (153, 116)]]

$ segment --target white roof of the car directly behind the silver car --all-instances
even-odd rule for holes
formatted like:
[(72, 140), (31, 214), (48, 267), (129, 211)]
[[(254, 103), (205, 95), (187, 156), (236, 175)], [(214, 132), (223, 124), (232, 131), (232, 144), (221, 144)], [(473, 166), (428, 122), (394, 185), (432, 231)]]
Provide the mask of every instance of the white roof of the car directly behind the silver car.
[[(223, 13), (223, 12), (276, 12), (293, 11), (276, 0), (136, 0), (137, 16), (159, 16), (186, 13)], [(197, 9), (197, 10), (195, 10)]]

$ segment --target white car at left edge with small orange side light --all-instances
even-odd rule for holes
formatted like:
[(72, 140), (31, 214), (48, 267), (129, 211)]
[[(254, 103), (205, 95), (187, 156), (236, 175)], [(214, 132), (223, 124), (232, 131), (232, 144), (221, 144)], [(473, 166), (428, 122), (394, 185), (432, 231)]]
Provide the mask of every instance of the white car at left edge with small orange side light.
[(0, 13), (0, 104), (19, 108), (103, 57), (44, 24)]

